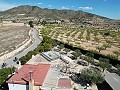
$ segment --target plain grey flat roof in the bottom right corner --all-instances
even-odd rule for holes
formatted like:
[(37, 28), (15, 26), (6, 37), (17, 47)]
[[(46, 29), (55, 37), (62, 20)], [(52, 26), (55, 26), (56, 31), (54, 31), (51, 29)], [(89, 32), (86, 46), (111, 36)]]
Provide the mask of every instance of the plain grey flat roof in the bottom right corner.
[(105, 80), (113, 90), (120, 90), (120, 76), (116, 73), (106, 73)]

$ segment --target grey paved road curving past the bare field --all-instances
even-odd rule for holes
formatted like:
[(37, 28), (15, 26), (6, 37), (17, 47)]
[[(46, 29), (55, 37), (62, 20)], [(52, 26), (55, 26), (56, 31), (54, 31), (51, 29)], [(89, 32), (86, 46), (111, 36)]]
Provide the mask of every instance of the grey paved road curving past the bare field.
[[(13, 62), (13, 60), (15, 59), (15, 57), (17, 57), (18, 59), (21, 58), (22, 56), (25, 56), (29, 51), (34, 50), (40, 43), (42, 40), (40, 40), (39, 36), (38, 36), (38, 32), (36, 29), (32, 29), (31, 31), (31, 35), (32, 35), (32, 39), (33, 40), (33, 44), (31, 46), (29, 46), (28, 48), (26, 48), (23, 52), (15, 55), (14, 57), (11, 57), (9, 59), (7, 59), (5, 62), (7, 63), (7, 67), (11, 67), (16, 65), (15, 62)], [(3, 61), (0, 62), (0, 68), (2, 66)]]

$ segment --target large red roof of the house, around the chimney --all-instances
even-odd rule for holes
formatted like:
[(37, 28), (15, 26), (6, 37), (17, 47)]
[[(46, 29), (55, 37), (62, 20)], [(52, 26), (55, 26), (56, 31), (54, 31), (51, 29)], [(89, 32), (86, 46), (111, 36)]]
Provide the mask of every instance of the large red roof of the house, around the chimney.
[(26, 85), (30, 80), (30, 72), (32, 72), (34, 85), (42, 86), (49, 68), (50, 64), (25, 64), (7, 81), (7, 83)]

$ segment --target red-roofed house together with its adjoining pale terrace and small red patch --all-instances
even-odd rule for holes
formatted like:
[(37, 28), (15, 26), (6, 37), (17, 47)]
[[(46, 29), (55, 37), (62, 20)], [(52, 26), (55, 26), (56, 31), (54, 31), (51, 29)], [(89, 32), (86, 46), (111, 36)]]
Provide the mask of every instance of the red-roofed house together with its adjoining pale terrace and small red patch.
[(72, 90), (71, 80), (61, 77), (52, 64), (25, 64), (8, 81), (9, 90)]

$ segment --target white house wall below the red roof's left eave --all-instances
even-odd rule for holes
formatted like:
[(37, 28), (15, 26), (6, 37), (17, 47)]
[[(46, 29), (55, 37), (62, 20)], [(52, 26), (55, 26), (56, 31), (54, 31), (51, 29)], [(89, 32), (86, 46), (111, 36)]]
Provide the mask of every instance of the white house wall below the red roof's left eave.
[(20, 84), (10, 84), (8, 83), (9, 90), (29, 90), (28, 85), (20, 85)]

